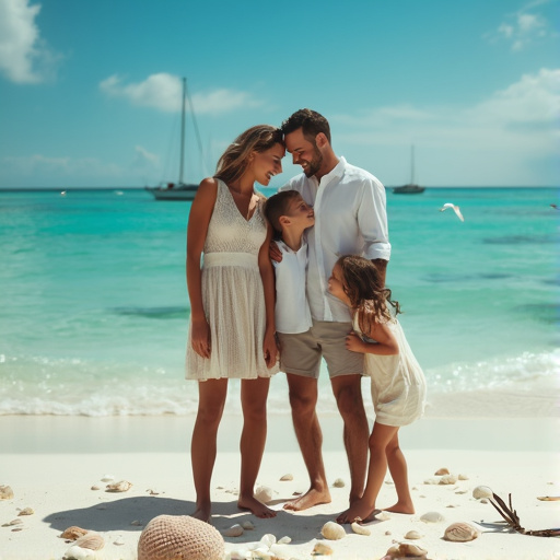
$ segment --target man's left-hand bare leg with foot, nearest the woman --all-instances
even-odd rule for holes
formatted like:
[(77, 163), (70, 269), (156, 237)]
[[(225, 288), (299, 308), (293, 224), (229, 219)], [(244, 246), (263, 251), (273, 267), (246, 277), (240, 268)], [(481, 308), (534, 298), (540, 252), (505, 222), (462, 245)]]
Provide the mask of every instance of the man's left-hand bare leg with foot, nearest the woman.
[(302, 511), (330, 502), (325, 465), (323, 464), (323, 433), (315, 406), (317, 380), (288, 373), (290, 406), (295, 436), (310, 475), (310, 489), (303, 495), (284, 504), (284, 510)]

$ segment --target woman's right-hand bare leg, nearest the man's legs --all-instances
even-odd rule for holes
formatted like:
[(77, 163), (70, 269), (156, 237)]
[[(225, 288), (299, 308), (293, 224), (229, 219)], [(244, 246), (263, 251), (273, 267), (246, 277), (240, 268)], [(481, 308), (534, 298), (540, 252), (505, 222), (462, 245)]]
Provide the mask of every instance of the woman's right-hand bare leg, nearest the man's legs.
[(259, 502), (255, 495), (265, 443), (267, 439), (267, 397), (270, 380), (242, 380), (241, 406), (243, 409), (243, 432), (241, 435), (241, 485), (237, 505), (250, 510), (261, 518), (275, 517), (276, 512)]

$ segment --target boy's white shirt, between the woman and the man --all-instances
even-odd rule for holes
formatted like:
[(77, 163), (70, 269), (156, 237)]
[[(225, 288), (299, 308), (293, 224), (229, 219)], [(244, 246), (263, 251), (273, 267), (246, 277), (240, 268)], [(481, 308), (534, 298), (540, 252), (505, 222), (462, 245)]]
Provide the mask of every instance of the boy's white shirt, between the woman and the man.
[(312, 327), (305, 290), (307, 243), (303, 238), (299, 250), (292, 250), (283, 241), (277, 241), (277, 245), (282, 260), (272, 261), (276, 273), (276, 330), (287, 335), (305, 332)]

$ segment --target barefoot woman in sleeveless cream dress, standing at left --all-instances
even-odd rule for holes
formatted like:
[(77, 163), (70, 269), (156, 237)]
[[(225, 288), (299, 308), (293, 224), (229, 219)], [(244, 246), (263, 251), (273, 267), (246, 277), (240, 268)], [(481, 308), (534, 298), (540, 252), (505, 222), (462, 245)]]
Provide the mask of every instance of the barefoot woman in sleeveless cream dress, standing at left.
[[(282, 172), (285, 149), (279, 129), (259, 125), (225, 150), (213, 177), (200, 183), (187, 231), (187, 284), (190, 299), (186, 377), (197, 380), (199, 404), (191, 440), (197, 493), (194, 516), (208, 522), (210, 481), (228, 380), (241, 378), (243, 433), (237, 505), (258, 517), (273, 517), (254, 497), (265, 450), (266, 400), (277, 372), (273, 270), (268, 257), (271, 228), (265, 197)], [(201, 264), (202, 257), (202, 264)]]

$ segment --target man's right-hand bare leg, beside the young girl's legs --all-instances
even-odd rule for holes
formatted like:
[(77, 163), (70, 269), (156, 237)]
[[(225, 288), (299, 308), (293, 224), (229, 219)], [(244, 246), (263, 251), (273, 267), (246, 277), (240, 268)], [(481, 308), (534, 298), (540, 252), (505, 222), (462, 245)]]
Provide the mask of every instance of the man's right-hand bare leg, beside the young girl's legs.
[(345, 446), (350, 467), (350, 505), (363, 494), (368, 469), (368, 418), (362, 400), (362, 376), (338, 375), (330, 380), (345, 422)]

